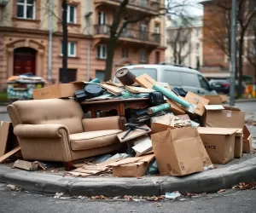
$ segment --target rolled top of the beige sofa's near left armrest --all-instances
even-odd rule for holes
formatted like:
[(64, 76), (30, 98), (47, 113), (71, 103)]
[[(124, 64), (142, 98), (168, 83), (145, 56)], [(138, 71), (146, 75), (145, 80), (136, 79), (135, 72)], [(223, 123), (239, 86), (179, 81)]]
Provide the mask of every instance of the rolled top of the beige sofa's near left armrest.
[(14, 133), (23, 138), (61, 138), (61, 130), (69, 135), (67, 127), (61, 124), (18, 124)]

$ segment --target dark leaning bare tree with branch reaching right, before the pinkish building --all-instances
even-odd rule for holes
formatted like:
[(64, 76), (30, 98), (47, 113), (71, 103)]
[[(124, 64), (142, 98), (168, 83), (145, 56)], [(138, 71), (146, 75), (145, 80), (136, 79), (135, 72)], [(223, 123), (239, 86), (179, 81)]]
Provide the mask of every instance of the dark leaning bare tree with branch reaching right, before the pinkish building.
[(141, 20), (150, 20), (160, 15), (176, 14), (177, 10), (182, 10), (184, 5), (189, 5), (189, 0), (167, 0), (166, 7), (164, 5), (159, 5), (157, 14), (131, 13), (130, 10), (126, 9), (128, 3), (129, 0), (120, 1), (118, 9), (116, 9), (113, 14), (113, 22), (109, 27), (109, 41), (107, 45), (107, 59), (104, 77), (105, 81), (108, 81), (112, 76), (114, 51), (117, 41), (126, 26), (129, 26), (131, 23), (137, 23)]

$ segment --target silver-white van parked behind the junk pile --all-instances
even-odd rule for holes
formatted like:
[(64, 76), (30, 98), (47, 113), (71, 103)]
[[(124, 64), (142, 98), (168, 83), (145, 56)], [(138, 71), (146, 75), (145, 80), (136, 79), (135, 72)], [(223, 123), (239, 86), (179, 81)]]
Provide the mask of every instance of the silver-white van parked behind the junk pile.
[[(129, 69), (137, 77), (147, 73), (157, 82), (169, 83), (171, 87), (183, 88), (198, 95), (218, 95), (201, 72), (186, 66), (132, 65), (121, 68)], [(119, 79), (114, 77), (113, 83), (119, 83)]]

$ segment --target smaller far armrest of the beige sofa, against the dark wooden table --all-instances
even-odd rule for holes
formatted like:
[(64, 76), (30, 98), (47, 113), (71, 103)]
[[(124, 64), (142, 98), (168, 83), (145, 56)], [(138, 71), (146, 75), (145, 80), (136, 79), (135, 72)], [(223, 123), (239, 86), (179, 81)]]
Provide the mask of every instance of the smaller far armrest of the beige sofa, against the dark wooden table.
[(98, 130), (121, 130), (119, 116), (105, 118), (84, 118), (82, 119), (84, 132)]

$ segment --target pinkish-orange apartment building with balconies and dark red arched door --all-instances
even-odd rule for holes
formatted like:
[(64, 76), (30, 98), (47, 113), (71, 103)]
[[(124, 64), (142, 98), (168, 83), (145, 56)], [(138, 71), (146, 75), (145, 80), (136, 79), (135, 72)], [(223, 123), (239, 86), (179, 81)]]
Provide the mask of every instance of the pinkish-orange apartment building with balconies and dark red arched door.
[[(55, 83), (103, 79), (108, 26), (112, 24), (120, 0), (67, 0), (67, 73), (61, 70), (61, 0), (7, 0), (0, 3), (2, 88), (6, 87), (9, 76), (26, 72), (46, 79), (50, 74)], [(130, 0), (126, 12), (158, 14), (163, 3), (164, 0)], [(117, 43), (113, 72), (126, 64), (164, 60), (164, 32), (165, 19), (158, 16), (128, 25)], [(52, 35), (52, 43), (49, 35)]]

